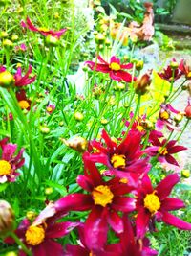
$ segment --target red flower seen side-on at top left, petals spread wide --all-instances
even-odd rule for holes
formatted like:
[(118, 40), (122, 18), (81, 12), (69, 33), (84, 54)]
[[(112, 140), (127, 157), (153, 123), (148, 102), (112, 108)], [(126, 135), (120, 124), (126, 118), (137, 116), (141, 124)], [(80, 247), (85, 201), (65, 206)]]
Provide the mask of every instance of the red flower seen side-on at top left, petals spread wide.
[(31, 31), (38, 32), (41, 35), (44, 35), (44, 36), (51, 35), (53, 37), (57, 37), (58, 39), (60, 38), (61, 35), (63, 35), (67, 31), (66, 28), (61, 29), (59, 31), (48, 30), (46, 28), (37, 28), (32, 24), (32, 21), (30, 20), (29, 17), (27, 17), (26, 23), (24, 21), (21, 21), (21, 26)]

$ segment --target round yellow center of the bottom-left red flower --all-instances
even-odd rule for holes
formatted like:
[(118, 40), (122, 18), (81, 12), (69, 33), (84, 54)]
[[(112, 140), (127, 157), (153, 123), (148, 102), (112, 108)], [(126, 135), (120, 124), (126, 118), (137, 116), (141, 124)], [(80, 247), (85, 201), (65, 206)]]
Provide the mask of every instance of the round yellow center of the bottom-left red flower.
[(32, 246), (41, 244), (45, 238), (45, 230), (42, 226), (30, 226), (25, 233), (26, 243)]

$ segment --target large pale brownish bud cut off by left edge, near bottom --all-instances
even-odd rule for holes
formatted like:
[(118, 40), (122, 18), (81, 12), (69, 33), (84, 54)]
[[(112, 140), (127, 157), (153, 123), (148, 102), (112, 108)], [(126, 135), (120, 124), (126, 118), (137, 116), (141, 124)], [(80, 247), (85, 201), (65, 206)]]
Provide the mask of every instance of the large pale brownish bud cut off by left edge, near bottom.
[(13, 229), (14, 214), (10, 203), (0, 200), (0, 237)]

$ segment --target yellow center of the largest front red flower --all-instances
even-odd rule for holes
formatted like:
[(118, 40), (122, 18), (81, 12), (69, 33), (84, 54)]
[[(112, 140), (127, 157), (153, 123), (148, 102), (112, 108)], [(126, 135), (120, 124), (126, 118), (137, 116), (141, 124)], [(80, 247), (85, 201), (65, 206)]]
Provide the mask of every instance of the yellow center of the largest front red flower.
[(114, 194), (111, 192), (108, 186), (97, 186), (92, 192), (95, 204), (99, 204), (105, 207), (108, 203), (112, 202)]

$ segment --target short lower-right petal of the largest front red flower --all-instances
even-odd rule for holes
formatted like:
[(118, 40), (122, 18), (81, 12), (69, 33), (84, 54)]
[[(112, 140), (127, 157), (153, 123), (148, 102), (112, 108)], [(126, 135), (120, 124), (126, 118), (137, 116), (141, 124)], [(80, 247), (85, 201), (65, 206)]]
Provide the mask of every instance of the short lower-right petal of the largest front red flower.
[(115, 211), (109, 212), (107, 220), (118, 234), (123, 232), (123, 221)]

